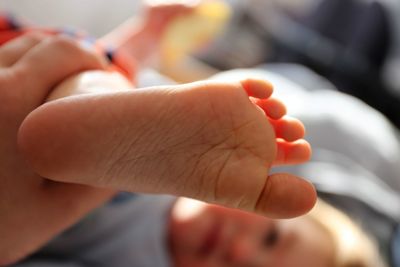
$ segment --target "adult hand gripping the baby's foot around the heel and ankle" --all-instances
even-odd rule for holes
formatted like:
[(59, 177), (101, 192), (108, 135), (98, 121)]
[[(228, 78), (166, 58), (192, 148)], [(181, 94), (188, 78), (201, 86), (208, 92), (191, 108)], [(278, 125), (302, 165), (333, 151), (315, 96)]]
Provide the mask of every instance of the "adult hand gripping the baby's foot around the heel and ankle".
[(28, 34), (0, 47), (0, 266), (27, 256), (114, 194), (43, 179), (17, 149), (21, 122), (56, 84), (104, 65), (65, 37)]

